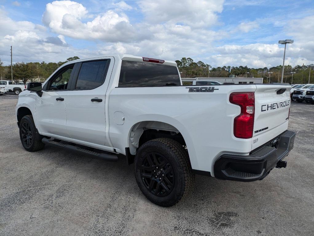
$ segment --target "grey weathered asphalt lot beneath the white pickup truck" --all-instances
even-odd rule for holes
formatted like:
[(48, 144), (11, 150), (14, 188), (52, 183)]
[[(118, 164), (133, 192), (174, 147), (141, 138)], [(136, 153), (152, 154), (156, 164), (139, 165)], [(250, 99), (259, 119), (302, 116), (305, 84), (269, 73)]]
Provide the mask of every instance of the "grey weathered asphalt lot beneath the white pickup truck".
[(133, 165), (23, 149), (0, 96), (0, 235), (314, 235), (314, 105), (292, 102), (287, 168), (251, 183), (197, 176), (176, 206), (147, 200)]

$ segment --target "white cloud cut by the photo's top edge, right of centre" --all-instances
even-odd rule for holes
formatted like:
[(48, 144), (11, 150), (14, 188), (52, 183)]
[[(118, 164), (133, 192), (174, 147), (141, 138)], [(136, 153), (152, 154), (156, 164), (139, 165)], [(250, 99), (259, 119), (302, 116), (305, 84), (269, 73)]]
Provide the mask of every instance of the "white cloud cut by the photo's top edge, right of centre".
[(217, 22), (224, 0), (139, 0), (146, 19), (150, 23), (184, 23), (192, 27), (208, 27)]

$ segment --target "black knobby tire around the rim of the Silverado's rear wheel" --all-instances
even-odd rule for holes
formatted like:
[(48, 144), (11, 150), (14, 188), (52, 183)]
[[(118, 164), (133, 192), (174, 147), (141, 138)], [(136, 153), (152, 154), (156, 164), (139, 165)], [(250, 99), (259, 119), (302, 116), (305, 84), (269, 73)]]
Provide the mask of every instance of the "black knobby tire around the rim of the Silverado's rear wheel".
[[(171, 192), (166, 196), (157, 196), (149, 191), (141, 177), (141, 166), (149, 153), (163, 155), (173, 169), (174, 184)], [(144, 143), (135, 156), (134, 172), (138, 187), (143, 194), (154, 204), (159, 206), (174, 206), (192, 190), (195, 174), (189, 161), (187, 150), (175, 140), (158, 138)]]

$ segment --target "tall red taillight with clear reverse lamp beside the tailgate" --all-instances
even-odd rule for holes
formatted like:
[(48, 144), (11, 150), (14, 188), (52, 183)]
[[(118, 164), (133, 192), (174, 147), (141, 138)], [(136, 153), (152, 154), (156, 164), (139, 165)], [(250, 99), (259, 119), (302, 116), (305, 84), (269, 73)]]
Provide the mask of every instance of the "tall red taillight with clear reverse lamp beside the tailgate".
[(252, 138), (255, 110), (254, 93), (231, 93), (229, 101), (241, 107), (240, 115), (234, 119), (233, 134), (240, 139)]

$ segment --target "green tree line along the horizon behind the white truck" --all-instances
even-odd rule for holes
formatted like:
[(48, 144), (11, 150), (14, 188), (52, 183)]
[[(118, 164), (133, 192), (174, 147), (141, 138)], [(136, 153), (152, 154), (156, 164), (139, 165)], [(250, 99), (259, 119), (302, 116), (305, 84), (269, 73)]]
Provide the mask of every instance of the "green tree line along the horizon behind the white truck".
[[(67, 63), (79, 59), (78, 57), (67, 58), (64, 62), (17, 62), (13, 65), (13, 79), (15, 82), (23, 81), (25, 84), (27, 81), (40, 81), (44, 82), (58, 67)], [(181, 58), (176, 60), (181, 78), (195, 78), (195, 77), (229, 77), (234, 75), (235, 77), (254, 77), (263, 78), (263, 83), (267, 82), (280, 82), (282, 65), (271, 68), (249, 68), (247, 66), (223, 66), (212, 67), (208, 63), (202, 61), (194, 62), (192, 58)], [(292, 74), (290, 72), (295, 72)], [(286, 83), (291, 81), (294, 84), (304, 84), (308, 82), (310, 68), (303, 65), (291, 65), (284, 66), (284, 79)], [(270, 77), (269, 77), (270, 76)], [(11, 66), (4, 66), (0, 59), (0, 79), (11, 80)], [(314, 72), (311, 73), (310, 83), (314, 84)]]

